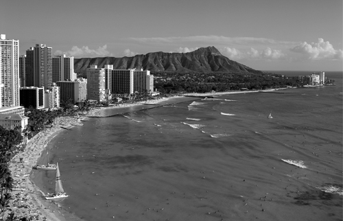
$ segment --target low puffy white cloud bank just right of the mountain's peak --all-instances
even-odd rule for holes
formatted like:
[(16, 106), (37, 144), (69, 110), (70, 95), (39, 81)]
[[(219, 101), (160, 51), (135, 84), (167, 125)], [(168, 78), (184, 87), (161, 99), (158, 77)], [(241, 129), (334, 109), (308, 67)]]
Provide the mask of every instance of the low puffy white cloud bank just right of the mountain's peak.
[(240, 51), (235, 48), (224, 47), (223, 49), (219, 50), (224, 56), (227, 56), (228, 58), (233, 60), (244, 58), (276, 60), (285, 57), (285, 54), (283, 54), (281, 50), (271, 49), (270, 47), (261, 50), (257, 50), (251, 47), (247, 51)]

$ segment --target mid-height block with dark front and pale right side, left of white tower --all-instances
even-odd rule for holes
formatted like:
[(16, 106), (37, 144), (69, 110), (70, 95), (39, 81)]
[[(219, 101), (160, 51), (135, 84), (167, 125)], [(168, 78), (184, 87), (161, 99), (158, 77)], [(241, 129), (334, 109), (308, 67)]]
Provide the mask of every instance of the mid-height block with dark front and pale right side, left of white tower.
[(87, 83), (81, 81), (60, 81), (56, 82), (60, 86), (60, 101), (71, 100), (71, 102), (81, 102), (87, 99)]

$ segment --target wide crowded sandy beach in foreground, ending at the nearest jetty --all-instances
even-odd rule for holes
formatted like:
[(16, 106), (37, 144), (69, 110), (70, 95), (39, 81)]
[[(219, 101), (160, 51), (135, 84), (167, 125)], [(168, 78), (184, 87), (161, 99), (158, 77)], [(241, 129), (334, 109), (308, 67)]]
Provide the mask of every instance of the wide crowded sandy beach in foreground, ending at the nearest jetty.
[[(14, 189), (10, 209), (5, 211), (4, 218), (12, 211), (19, 218), (34, 218), (34, 220), (65, 220), (62, 214), (58, 213), (58, 207), (53, 202), (43, 198), (44, 193), (40, 191), (30, 180), (30, 175), (35, 172), (32, 167), (46, 150), (47, 143), (56, 137), (63, 128), (82, 126), (82, 118), (58, 117), (54, 126), (39, 132), (32, 139), (29, 139), (23, 152), (20, 152), (12, 159), (10, 170), (14, 178)], [(63, 127), (63, 128), (62, 128)], [(20, 159), (22, 158), (22, 162)], [(56, 209), (57, 208), (57, 209)]]

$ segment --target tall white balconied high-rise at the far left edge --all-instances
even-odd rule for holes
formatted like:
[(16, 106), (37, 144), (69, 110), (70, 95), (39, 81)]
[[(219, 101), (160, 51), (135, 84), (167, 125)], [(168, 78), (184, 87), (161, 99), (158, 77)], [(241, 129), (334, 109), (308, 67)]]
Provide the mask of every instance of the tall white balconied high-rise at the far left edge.
[(19, 40), (0, 34), (0, 108), (19, 106)]

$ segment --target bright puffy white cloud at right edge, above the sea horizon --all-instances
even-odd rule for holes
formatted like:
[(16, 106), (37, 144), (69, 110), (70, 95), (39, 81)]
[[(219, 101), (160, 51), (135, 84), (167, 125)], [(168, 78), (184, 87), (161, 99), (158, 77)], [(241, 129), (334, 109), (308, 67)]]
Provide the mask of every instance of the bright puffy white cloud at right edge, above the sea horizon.
[(334, 49), (329, 41), (324, 41), (323, 38), (318, 38), (317, 43), (307, 43), (306, 41), (296, 45), (290, 49), (299, 54), (303, 54), (309, 60), (322, 59), (342, 59), (342, 49)]

